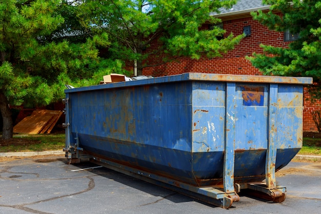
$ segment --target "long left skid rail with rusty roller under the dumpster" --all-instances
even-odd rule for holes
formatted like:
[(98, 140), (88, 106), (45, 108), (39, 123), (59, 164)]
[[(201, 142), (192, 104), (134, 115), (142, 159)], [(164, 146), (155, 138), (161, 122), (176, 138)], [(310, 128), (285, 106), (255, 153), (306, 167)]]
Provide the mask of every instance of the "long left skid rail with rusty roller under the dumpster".
[(127, 174), (128, 176), (144, 180), (146, 182), (162, 186), (182, 194), (186, 194), (187, 196), (197, 200), (202, 200), (225, 209), (230, 208), (233, 202), (239, 201), (239, 196), (235, 191), (224, 192), (212, 186), (192, 186), (164, 176), (159, 176), (158, 174), (153, 174), (147, 171), (132, 168), (130, 166), (114, 163), (106, 159), (93, 157), (91, 161), (98, 165), (103, 165), (109, 169)]

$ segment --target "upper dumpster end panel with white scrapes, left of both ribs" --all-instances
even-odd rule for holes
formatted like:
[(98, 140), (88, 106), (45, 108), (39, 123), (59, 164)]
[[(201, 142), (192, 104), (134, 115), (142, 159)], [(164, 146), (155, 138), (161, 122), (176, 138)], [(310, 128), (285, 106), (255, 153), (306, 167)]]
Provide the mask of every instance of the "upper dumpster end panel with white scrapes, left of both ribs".
[(193, 83), (193, 152), (224, 150), (225, 84)]

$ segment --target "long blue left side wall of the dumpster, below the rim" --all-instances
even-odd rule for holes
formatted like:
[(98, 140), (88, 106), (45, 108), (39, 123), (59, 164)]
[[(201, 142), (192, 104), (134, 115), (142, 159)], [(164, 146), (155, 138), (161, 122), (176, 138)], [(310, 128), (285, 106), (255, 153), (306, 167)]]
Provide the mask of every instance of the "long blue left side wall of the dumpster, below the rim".
[(87, 153), (194, 182), (191, 82), (69, 96), (71, 132)]

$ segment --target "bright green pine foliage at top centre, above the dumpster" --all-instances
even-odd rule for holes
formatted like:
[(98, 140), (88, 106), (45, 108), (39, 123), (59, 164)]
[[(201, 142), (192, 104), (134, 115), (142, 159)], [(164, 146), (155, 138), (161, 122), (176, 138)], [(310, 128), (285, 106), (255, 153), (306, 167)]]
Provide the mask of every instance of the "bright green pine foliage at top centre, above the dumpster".
[[(204, 23), (219, 23), (210, 16), (219, 8), (229, 8), (236, 1), (218, 0), (113, 0), (84, 1), (78, 17), (91, 26), (92, 31), (108, 33), (111, 46), (108, 56), (137, 62), (138, 75), (148, 64), (150, 54), (170, 56), (214, 57), (231, 50), (243, 35), (232, 34), (223, 40), (217, 36), (223, 29), (199, 30)], [(162, 42), (158, 50), (145, 51), (156, 40)], [(145, 60), (145, 61), (144, 61)], [(142, 64), (143, 61), (146, 64)]]

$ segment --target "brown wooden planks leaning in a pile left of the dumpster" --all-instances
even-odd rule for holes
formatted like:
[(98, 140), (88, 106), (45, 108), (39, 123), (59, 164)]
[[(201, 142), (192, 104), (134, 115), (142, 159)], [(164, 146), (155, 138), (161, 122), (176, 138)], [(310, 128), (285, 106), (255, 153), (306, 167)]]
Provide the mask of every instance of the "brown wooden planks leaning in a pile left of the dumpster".
[(63, 111), (37, 109), (13, 127), (14, 133), (50, 133)]

